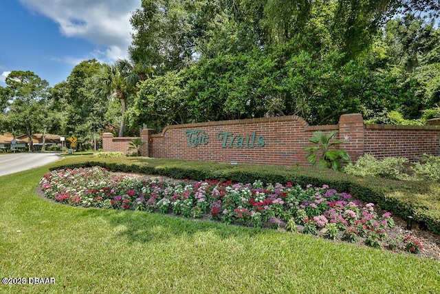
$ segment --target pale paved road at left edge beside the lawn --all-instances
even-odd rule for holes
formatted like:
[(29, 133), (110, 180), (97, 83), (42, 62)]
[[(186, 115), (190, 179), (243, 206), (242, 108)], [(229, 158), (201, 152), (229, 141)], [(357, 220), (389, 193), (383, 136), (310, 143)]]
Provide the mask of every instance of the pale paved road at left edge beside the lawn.
[(0, 155), (0, 176), (14, 174), (60, 159), (56, 153), (16, 153)]

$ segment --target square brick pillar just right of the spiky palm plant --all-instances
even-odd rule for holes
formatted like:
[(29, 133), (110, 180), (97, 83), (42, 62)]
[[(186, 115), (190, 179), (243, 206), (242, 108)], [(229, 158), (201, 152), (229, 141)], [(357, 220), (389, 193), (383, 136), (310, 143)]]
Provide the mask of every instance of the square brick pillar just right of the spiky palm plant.
[(364, 118), (362, 114), (343, 114), (339, 119), (339, 139), (347, 140), (340, 145), (351, 156), (351, 161), (364, 155)]

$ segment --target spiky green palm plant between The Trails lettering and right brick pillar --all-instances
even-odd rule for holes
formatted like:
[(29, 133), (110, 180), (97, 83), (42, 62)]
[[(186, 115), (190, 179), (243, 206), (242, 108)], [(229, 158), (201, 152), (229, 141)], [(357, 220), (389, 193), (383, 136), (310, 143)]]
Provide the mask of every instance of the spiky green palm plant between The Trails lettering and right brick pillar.
[(308, 139), (309, 142), (318, 145), (304, 148), (305, 151), (309, 151), (306, 158), (313, 166), (318, 165), (318, 167), (332, 168), (337, 171), (340, 169), (342, 163), (348, 163), (350, 161), (350, 156), (347, 151), (342, 149), (331, 149), (332, 147), (345, 142), (345, 140), (331, 141), (333, 136), (337, 133), (338, 131), (332, 131), (329, 134), (316, 132)]

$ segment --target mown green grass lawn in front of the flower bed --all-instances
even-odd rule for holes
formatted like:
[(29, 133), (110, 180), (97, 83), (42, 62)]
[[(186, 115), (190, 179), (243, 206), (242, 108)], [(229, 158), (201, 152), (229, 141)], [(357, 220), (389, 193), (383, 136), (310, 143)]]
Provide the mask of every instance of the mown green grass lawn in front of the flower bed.
[[(60, 163), (89, 156), (72, 156)], [(52, 164), (54, 165), (54, 164)], [(36, 196), (40, 167), (0, 177), (0, 293), (436, 293), (440, 262), (310, 235)], [(438, 292), (437, 292), (438, 293)]]

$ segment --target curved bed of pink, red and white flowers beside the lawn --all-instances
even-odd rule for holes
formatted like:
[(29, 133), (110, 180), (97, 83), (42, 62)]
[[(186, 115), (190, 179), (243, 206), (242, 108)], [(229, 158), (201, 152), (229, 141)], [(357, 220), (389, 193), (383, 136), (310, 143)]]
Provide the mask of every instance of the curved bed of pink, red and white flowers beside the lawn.
[[(60, 169), (41, 179), (47, 198), (83, 207), (174, 213), (227, 224), (285, 228), (333, 240), (363, 241), (377, 248), (423, 249), (414, 238), (388, 238), (391, 213), (378, 216), (374, 204), (323, 187), (287, 182), (263, 185), (218, 181), (162, 181), (113, 176), (101, 167)], [(400, 241), (399, 241), (400, 240)]]

